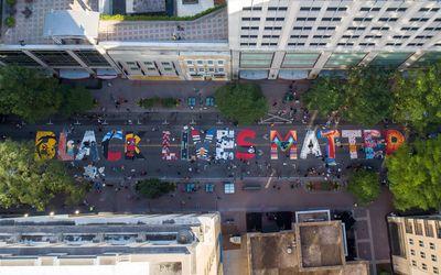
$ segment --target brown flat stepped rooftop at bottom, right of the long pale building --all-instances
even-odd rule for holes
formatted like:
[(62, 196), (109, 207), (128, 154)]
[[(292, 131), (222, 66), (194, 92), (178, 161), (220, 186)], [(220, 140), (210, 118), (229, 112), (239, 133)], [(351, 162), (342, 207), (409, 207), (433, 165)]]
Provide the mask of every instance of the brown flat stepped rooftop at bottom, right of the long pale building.
[(247, 234), (250, 274), (368, 274), (367, 262), (345, 262), (340, 221), (294, 226), (291, 231)]

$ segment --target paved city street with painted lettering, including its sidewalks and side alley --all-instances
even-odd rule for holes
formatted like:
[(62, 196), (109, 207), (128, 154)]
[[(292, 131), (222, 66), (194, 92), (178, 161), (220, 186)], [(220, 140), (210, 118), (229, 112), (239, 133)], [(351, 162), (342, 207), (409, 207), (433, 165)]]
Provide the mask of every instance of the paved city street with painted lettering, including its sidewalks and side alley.
[[(172, 110), (147, 111), (137, 106), (139, 99), (148, 96), (174, 97), (182, 102), (187, 97), (213, 96), (219, 85), (147, 85), (114, 80), (94, 91), (98, 107), (87, 116), (72, 120), (52, 118), (37, 125), (7, 121), (0, 125), (0, 136), (35, 142), (41, 157), (47, 157), (44, 144), (49, 144), (46, 139), (52, 139), (57, 145), (52, 148), (54, 154), (49, 158), (67, 157), (63, 160), (72, 174), (93, 183), (80, 206), (50, 209), (56, 212), (217, 210), (222, 213), (223, 224), (233, 224), (236, 233), (244, 233), (247, 231), (247, 212), (349, 210), (356, 219), (358, 255), (373, 264), (388, 262), (385, 217), (394, 210), (390, 193), (384, 187), (375, 202), (362, 208), (344, 190), (344, 186), (351, 167), (364, 165), (379, 169), (385, 156), (385, 147), (379, 145), (387, 138), (387, 130), (402, 129), (376, 127), (374, 132), (378, 130), (376, 133), (379, 135), (372, 136), (369, 130), (373, 129), (340, 124), (332, 129), (338, 130), (340, 134), (335, 140), (335, 155), (330, 157), (333, 153), (330, 153), (329, 140), (323, 136), (316, 140), (318, 155), (316, 147), (306, 139), (309, 133), (316, 138), (320, 131), (326, 133), (332, 130), (318, 120), (314, 122), (319, 125), (313, 127), (311, 114), (304, 113), (300, 102), (282, 102), (289, 86), (287, 81), (260, 84), (269, 98), (271, 113), (277, 118), (246, 128), (226, 121), (215, 108), (201, 106), (190, 109), (182, 103)], [(299, 84), (299, 95), (308, 86), (306, 81)], [(122, 103), (115, 106), (116, 99)], [(287, 116), (287, 110), (292, 112)], [(289, 118), (290, 122), (284, 118)], [(277, 134), (272, 135), (271, 131)], [(344, 131), (358, 131), (361, 135), (355, 139), (356, 143), (349, 144), (349, 139), (342, 136)], [(245, 139), (240, 138), (243, 134)], [(275, 136), (276, 140), (272, 140)], [(64, 144), (62, 151), (60, 143)], [(72, 145), (72, 155), (68, 155), (68, 144)], [(302, 156), (303, 151), (306, 154)], [(159, 199), (148, 200), (135, 190), (136, 182), (143, 178), (174, 182), (179, 184), (178, 189)], [(311, 183), (326, 182), (337, 183), (343, 188), (310, 188)], [(233, 193), (226, 193), (226, 183), (234, 185)], [(207, 189), (207, 185), (212, 188)]]

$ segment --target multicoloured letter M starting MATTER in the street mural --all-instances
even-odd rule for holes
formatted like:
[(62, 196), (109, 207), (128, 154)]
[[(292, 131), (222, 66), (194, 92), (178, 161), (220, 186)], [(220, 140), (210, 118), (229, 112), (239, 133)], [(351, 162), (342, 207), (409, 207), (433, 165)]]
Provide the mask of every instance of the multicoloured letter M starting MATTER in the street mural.
[(271, 141), (271, 160), (278, 160), (278, 150), (289, 154), (290, 160), (297, 160), (297, 132), (290, 130), (282, 139), (278, 131), (271, 130), (269, 140)]

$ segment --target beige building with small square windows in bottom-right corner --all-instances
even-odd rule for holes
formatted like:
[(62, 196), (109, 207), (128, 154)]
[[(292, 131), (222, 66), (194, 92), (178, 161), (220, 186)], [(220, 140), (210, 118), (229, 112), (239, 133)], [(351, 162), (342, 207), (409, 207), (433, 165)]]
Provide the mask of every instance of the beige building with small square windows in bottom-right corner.
[(388, 217), (396, 274), (440, 274), (441, 217)]

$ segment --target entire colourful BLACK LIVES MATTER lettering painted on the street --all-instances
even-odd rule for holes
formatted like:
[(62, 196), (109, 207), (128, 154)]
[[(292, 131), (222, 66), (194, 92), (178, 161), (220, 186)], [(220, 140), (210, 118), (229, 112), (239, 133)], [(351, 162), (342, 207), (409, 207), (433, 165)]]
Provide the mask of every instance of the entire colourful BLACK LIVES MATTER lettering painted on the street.
[[(270, 146), (269, 158), (272, 161), (279, 158), (298, 158), (299, 139), (295, 130), (288, 130), (281, 134), (277, 130), (270, 130), (268, 140)], [(144, 158), (142, 154), (142, 136), (146, 132), (133, 133), (123, 130), (111, 130), (107, 132), (101, 142), (101, 152), (98, 152), (96, 135), (93, 130), (87, 130), (83, 139), (75, 143), (69, 140), (71, 133), (65, 129), (60, 132), (58, 140), (52, 131), (37, 131), (35, 135), (35, 160), (52, 160), (55, 156), (61, 161), (89, 161), (96, 163), (103, 154), (104, 160), (116, 162), (126, 160)], [(232, 129), (208, 129), (206, 131), (196, 128), (184, 127), (181, 132), (180, 151), (172, 152), (172, 133), (162, 132), (162, 146), (159, 153), (164, 161), (190, 161), (194, 155), (203, 161), (249, 161), (260, 157), (263, 153), (258, 150), (255, 143), (256, 132), (250, 129), (237, 131)], [(71, 138), (72, 139), (72, 138)], [(150, 142), (144, 139), (144, 142)], [(322, 154), (320, 143), (324, 142), (325, 153)], [(352, 160), (358, 158), (359, 152), (363, 152), (366, 160), (384, 158), (398, 150), (405, 142), (405, 136), (398, 130), (308, 130), (303, 142), (301, 143), (300, 158), (305, 160), (310, 155), (314, 157), (324, 157), (327, 165), (336, 165), (336, 151), (343, 147), (344, 142), (348, 146), (348, 153)], [(189, 143), (192, 143), (190, 145)], [(179, 146), (179, 144), (176, 144)], [(359, 150), (357, 146), (361, 146)], [(123, 148), (122, 148), (123, 147)], [(214, 148), (213, 148), (214, 147)], [(261, 148), (261, 147), (260, 147)], [(180, 155), (179, 155), (180, 152)], [(88, 167), (88, 166), (87, 166)], [(100, 175), (101, 172), (96, 167), (88, 167), (88, 176)], [(96, 173), (95, 173), (96, 170)]]

